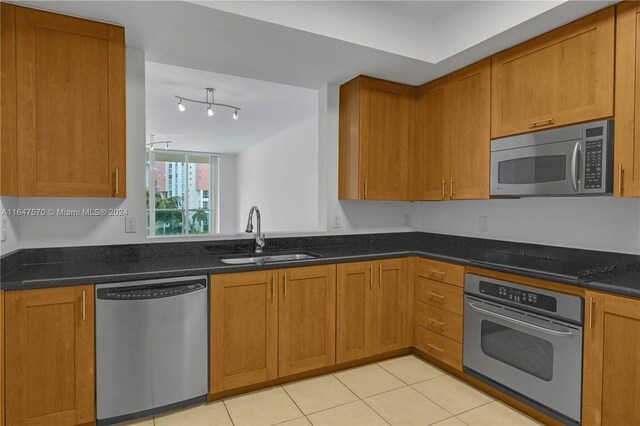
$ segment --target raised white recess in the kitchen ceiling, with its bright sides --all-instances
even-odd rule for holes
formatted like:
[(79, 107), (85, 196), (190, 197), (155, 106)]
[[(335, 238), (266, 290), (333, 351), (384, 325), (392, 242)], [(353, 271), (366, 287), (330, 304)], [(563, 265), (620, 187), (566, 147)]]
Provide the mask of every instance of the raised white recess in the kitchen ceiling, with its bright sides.
[(438, 63), (565, 1), (209, 1), (193, 3)]

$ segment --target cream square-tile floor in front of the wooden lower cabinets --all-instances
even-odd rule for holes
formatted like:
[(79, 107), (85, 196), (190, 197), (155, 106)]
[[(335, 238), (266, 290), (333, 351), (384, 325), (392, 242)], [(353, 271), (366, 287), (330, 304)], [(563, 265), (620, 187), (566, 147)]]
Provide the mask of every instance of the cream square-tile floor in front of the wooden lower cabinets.
[(136, 426), (537, 424), (412, 355), (128, 423)]

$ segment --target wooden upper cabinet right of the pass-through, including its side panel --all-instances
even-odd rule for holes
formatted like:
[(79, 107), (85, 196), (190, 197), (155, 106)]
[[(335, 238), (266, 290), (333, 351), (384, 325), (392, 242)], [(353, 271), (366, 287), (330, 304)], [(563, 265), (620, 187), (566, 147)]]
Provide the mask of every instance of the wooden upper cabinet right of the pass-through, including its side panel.
[(339, 199), (410, 199), (413, 90), (363, 76), (340, 87)]

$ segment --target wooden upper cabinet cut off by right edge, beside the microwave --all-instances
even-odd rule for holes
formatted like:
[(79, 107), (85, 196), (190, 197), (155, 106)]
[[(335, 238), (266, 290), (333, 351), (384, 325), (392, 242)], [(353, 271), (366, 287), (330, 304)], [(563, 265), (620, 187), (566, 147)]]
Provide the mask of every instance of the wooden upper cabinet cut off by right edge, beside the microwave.
[(616, 5), (614, 195), (640, 196), (640, 2)]

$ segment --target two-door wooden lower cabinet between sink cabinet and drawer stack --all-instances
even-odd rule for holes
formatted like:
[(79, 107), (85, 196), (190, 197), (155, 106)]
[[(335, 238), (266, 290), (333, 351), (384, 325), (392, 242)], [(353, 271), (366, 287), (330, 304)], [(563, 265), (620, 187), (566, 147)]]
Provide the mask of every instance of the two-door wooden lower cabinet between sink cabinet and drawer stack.
[(407, 347), (407, 259), (338, 265), (338, 363)]

